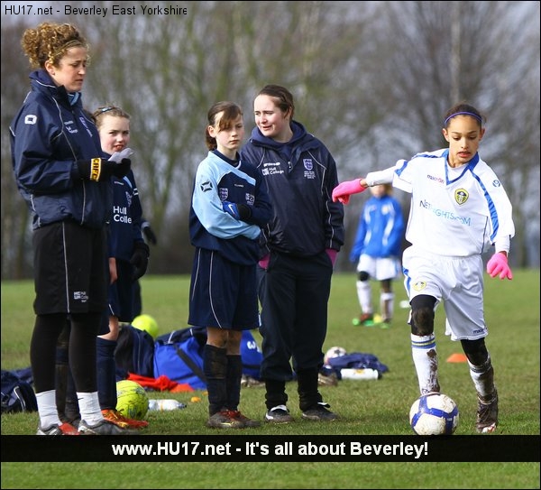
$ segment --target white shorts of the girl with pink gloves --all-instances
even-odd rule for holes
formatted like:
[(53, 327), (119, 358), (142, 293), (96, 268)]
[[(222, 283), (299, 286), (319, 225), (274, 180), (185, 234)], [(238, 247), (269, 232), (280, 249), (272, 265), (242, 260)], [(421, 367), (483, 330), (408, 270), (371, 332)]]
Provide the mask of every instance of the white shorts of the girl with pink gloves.
[(452, 340), (476, 340), (488, 335), (481, 255), (436, 255), (410, 246), (404, 251), (402, 263), (410, 302), (419, 294), (436, 298), (436, 306), (443, 300), (445, 335)]

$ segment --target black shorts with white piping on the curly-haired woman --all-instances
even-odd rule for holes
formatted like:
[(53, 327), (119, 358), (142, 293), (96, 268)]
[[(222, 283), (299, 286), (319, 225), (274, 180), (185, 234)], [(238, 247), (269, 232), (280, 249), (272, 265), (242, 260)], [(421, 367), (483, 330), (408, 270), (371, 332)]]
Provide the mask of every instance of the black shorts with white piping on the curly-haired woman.
[(102, 313), (107, 306), (105, 227), (60, 221), (32, 236), (36, 315)]

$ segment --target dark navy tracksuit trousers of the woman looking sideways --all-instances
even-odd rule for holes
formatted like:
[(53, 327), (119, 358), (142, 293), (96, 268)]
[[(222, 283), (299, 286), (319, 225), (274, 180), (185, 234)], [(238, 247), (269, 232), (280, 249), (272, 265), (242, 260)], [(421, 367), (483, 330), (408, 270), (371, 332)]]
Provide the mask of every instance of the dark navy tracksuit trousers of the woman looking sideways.
[(323, 365), (333, 264), (325, 251), (311, 257), (273, 252), (268, 269), (258, 269), (267, 408), (287, 402), (285, 382), (293, 377), (292, 361), (300, 409), (308, 410), (322, 401), (317, 374)]

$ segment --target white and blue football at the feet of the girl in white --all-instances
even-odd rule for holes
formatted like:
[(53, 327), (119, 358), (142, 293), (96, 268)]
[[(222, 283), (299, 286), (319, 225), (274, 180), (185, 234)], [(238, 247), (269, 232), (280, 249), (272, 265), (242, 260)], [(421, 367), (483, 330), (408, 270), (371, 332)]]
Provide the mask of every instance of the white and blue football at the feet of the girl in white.
[(409, 424), (418, 436), (450, 436), (458, 427), (458, 407), (444, 393), (427, 393), (409, 410)]

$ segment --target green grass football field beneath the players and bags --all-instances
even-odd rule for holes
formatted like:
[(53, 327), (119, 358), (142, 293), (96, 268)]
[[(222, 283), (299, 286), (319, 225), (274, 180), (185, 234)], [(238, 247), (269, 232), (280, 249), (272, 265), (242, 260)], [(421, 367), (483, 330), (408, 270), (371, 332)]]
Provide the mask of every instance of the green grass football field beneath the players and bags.
[[(500, 393), (501, 435), (539, 435), (539, 271), (514, 271), (513, 281), (485, 280), (485, 317)], [(409, 349), (408, 310), (401, 282), (395, 319), (387, 330), (353, 327), (358, 315), (353, 273), (336, 273), (329, 302), (325, 349), (371, 353), (389, 366), (377, 381), (341, 381), (321, 391), (341, 416), (332, 424), (301, 421), (296, 385), (289, 384), (289, 409), (296, 423), (262, 425), (257, 435), (411, 435), (408, 410), (417, 398), (417, 378)], [(143, 310), (160, 326), (160, 334), (185, 328), (188, 276), (142, 279)], [(378, 298), (377, 285), (374, 298)], [(32, 282), (2, 282), (2, 368), (30, 365), (28, 347), (33, 326)], [(457, 402), (461, 419), (456, 435), (473, 435), (475, 393), (467, 365), (445, 360), (461, 352), (444, 335), (445, 316), (436, 313), (436, 340), (442, 391)], [(255, 337), (259, 339), (258, 334)], [(149, 412), (149, 435), (213, 435), (206, 429), (205, 393), (150, 393), (151, 398), (177, 398), (188, 407)], [(262, 419), (261, 388), (245, 388), (241, 410)], [(2, 435), (34, 433), (36, 413), (2, 416)], [(223, 431), (220, 432), (223, 435)], [(233, 437), (233, 436), (232, 436)], [(485, 438), (491, 444), (491, 436)], [(539, 488), (539, 463), (2, 463), (2, 488)], [(82, 476), (82, 479), (78, 477)]]

